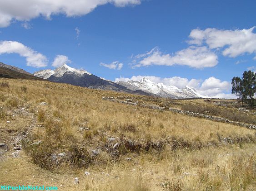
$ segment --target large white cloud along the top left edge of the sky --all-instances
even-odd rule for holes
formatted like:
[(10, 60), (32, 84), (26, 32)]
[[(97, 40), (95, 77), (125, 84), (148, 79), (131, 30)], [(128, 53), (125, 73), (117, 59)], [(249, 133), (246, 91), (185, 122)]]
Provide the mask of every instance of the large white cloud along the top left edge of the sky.
[(107, 3), (117, 7), (139, 5), (142, 0), (0, 0), (0, 27), (8, 27), (12, 19), (29, 21), (39, 16), (50, 19), (53, 14), (67, 17), (90, 13)]

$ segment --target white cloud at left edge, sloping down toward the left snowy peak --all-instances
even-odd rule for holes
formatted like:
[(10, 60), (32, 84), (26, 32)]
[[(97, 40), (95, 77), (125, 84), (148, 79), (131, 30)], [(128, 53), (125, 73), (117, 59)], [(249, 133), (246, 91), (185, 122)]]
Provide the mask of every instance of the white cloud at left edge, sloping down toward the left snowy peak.
[(31, 67), (45, 67), (47, 66), (47, 58), (26, 47), (24, 44), (16, 41), (0, 41), (0, 55), (4, 53), (17, 53), (21, 57), (25, 57), (27, 61), (27, 66)]

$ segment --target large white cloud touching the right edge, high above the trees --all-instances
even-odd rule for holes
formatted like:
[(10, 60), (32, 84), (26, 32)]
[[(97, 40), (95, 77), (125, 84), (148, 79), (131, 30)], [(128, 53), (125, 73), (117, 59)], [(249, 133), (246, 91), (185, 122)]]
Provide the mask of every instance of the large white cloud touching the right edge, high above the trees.
[(206, 43), (211, 49), (223, 48), (223, 56), (228, 57), (237, 57), (244, 53), (256, 53), (254, 29), (255, 27), (241, 30), (193, 29), (189, 36), (191, 38), (189, 43), (200, 46)]

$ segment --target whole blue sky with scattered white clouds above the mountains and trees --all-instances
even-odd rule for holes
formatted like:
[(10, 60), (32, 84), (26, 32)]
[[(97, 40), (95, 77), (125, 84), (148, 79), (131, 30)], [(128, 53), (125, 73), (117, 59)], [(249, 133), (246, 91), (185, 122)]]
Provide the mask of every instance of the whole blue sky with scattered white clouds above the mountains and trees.
[(216, 97), (231, 96), (233, 76), (256, 71), (255, 0), (42, 2), (35, 10), (29, 0), (0, 0), (0, 62), (35, 72), (63, 55), (55, 66), (67, 61), (110, 80), (148, 76)]

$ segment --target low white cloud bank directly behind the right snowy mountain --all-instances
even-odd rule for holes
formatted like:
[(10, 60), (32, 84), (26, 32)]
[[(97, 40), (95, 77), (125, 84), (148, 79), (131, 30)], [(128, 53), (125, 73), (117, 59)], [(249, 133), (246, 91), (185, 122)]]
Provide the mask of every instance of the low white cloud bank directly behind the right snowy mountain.
[(143, 77), (148, 78), (150, 81), (155, 83), (163, 83), (168, 86), (176, 86), (180, 89), (185, 86), (191, 86), (196, 89), (201, 95), (208, 95), (214, 98), (234, 98), (235, 96), (229, 93), (231, 90), (231, 84), (228, 81), (221, 81), (213, 76), (206, 80), (182, 78), (180, 76), (174, 76), (169, 78), (162, 78), (158, 76), (132, 76), (131, 78), (119, 77), (115, 78), (115, 81), (140, 81)]

